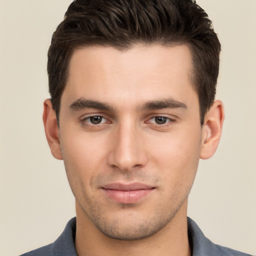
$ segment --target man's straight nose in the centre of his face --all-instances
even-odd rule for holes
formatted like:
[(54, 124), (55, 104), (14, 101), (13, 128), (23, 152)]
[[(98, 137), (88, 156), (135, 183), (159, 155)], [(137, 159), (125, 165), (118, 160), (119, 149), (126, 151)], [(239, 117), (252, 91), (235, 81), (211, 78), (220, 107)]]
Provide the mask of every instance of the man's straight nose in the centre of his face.
[(139, 128), (132, 124), (116, 127), (112, 135), (108, 164), (122, 171), (143, 167), (147, 162), (146, 148)]

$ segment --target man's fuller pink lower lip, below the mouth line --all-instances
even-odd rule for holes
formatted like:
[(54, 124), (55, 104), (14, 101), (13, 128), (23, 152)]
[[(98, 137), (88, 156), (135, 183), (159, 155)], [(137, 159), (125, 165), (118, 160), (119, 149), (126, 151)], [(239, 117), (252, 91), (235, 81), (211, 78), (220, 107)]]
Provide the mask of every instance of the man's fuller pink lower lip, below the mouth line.
[(140, 199), (144, 198), (154, 190), (154, 188), (138, 189), (138, 190), (130, 190), (130, 191), (105, 189), (105, 188), (103, 189), (105, 193), (114, 201), (119, 203), (126, 203), (126, 204), (138, 202)]

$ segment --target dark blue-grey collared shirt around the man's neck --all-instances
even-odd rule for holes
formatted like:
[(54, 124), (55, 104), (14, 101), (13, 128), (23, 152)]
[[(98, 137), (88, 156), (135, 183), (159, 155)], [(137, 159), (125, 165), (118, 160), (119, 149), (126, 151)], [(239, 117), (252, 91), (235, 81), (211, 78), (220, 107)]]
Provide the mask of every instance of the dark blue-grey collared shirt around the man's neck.
[[(74, 245), (75, 230), (76, 218), (74, 217), (68, 221), (62, 234), (53, 243), (20, 256), (77, 256)], [(252, 256), (212, 243), (189, 217), (187, 217), (187, 232), (191, 256)]]

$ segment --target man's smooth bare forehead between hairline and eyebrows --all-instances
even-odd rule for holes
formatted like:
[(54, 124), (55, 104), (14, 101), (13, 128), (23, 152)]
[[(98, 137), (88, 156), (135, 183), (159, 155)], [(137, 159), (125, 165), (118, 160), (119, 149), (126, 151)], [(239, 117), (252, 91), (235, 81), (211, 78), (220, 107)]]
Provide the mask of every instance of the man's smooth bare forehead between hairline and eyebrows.
[(186, 94), (195, 93), (191, 66), (191, 52), (185, 44), (135, 45), (126, 50), (79, 47), (71, 56), (62, 97), (69, 101), (96, 97), (123, 104), (164, 97), (184, 101)]

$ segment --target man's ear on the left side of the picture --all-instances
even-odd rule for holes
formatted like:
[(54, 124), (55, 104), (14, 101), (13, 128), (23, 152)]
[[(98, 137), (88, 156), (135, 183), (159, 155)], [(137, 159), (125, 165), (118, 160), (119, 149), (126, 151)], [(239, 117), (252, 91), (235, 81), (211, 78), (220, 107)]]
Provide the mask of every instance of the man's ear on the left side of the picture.
[(51, 154), (56, 159), (62, 160), (56, 113), (55, 113), (55, 110), (52, 108), (52, 104), (49, 98), (45, 99), (43, 102), (42, 120), (43, 120), (44, 131), (50, 147)]

